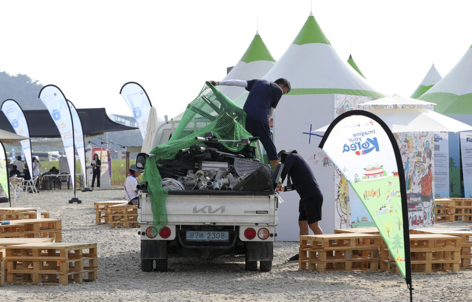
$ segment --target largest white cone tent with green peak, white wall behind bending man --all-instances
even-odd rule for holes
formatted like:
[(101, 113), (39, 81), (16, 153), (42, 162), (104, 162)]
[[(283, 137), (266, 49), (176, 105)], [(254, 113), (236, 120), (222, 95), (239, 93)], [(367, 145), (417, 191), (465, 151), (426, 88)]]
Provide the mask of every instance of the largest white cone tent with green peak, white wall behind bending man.
[[(310, 132), (329, 124), (338, 115), (335, 99), (360, 96), (356, 98), (371, 100), (384, 95), (337, 55), (311, 13), (292, 45), (263, 77), (269, 81), (278, 78), (286, 78), (292, 90), (282, 96), (275, 110), (275, 145), (277, 150), (296, 149), (311, 165), (326, 200), (321, 227), (325, 233), (332, 233), (335, 168), (324, 164), (323, 150), (318, 148), (321, 137)], [(241, 101), (240, 97), (236, 104)], [(279, 205), (277, 240), (297, 241), (298, 194), (287, 192), (282, 198), (286, 202)]]

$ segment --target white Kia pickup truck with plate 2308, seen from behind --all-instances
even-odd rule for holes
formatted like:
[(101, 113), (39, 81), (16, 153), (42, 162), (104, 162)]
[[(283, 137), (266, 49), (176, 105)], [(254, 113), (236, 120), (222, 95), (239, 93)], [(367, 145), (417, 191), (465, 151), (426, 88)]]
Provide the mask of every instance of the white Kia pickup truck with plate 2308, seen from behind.
[[(177, 121), (166, 119), (156, 131), (154, 144), (167, 142), (176, 126)], [(247, 271), (256, 271), (258, 261), (261, 271), (270, 271), (279, 201), (278, 192), (273, 190), (169, 191), (168, 223), (153, 236), (151, 200), (147, 191), (139, 191), (142, 271), (154, 270), (154, 261), (156, 271), (167, 271), (169, 254), (192, 254), (203, 259), (244, 254)]]

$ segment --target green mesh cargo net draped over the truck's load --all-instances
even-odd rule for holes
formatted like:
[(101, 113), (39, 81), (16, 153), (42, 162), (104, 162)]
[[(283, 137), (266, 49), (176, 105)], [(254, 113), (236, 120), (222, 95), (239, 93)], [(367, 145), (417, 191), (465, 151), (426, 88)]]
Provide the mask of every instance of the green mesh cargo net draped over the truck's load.
[[(179, 150), (196, 144), (195, 137), (205, 137), (209, 131), (218, 139), (239, 140), (252, 137), (245, 130), (246, 113), (209, 82), (200, 91), (198, 97), (187, 106), (176, 131), (169, 142), (158, 145), (149, 153), (155, 157), (148, 158), (143, 182), (148, 182), (148, 194), (151, 199), (153, 216), (153, 235), (156, 235), (167, 224), (166, 198), (167, 190), (162, 188), (162, 178), (157, 167), (159, 160), (174, 159)], [(236, 142), (222, 142), (229, 151), (239, 152), (244, 145)], [(256, 147), (256, 158), (268, 163), (263, 154), (260, 141), (251, 143)]]

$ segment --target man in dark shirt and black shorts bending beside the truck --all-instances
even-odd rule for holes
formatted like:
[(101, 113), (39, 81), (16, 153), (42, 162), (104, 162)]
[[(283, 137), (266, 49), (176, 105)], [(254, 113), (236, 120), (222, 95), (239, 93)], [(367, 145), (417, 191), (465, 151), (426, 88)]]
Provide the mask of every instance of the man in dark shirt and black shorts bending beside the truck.
[[(282, 150), (279, 152), (279, 158), (284, 152), (286, 151)], [(313, 171), (301, 155), (291, 153), (287, 156), (281, 174), (282, 182), (284, 182), (287, 175), (292, 181), (291, 189), (295, 189), (300, 196), (300, 203), (298, 205), (300, 235), (308, 235), (308, 227), (315, 235), (323, 234), (323, 230), (318, 225), (318, 221), (321, 220), (323, 193), (320, 190), (320, 186), (318, 186)], [(287, 187), (284, 187), (283, 191), (287, 191)], [(298, 261), (298, 254), (290, 258), (289, 261)]]

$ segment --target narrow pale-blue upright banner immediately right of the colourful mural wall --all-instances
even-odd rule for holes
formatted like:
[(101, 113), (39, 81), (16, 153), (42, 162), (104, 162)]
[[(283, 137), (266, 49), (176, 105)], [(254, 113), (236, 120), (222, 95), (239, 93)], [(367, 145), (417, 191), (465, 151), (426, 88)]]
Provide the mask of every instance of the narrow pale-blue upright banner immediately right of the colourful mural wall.
[(434, 134), (434, 191), (435, 197), (449, 197), (449, 134)]

